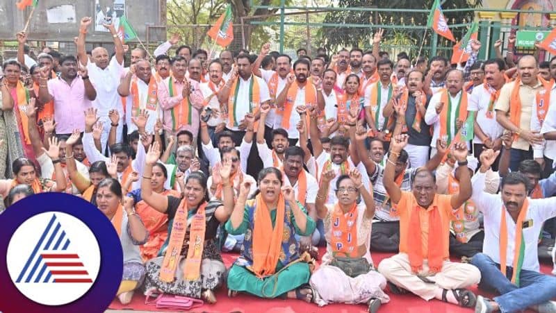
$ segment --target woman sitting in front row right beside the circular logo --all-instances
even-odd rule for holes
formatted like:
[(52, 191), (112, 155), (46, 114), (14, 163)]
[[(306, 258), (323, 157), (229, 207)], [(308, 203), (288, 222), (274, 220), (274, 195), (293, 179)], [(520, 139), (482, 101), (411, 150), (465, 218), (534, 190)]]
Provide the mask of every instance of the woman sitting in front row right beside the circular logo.
[(97, 186), (97, 207), (112, 221), (124, 252), (124, 273), (117, 297), (122, 304), (128, 304), (133, 291), (145, 279), (145, 267), (139, 253), (139, 245), (149, 239), (149, 232), (143, 225), (133, 206), (122, 206), (122, 186), (114, 178), (105, 178)]

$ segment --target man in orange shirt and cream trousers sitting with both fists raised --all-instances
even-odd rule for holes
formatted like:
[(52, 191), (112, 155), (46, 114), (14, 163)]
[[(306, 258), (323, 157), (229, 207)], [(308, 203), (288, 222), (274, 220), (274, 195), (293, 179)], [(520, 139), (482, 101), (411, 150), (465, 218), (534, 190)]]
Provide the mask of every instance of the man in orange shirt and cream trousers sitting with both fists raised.
[[(395, 183), (395, 164), (407, 144), (407, 135), (393, 137), (389, 161), (384, 169), (384, 187), (393, 204), (391, 211), (400, 217), (400, 253), (380, 262), (378, 271), (389, 280), (395, 294), (411, 292), (429, 301), (433, 298), (474, 307), (475, 295), (465, 289), (480, 280), (480, 272), (471, 264), (450, 262), (448, 242), (450, 220), (471, 196), (469, 171), (461, 171), (459, 192), (438, 194), (434, 174), (418, 169), (411, 192), (402, 192)], [(458, 142), (451, 152), (457, 166), (467, 167), (467, 146)]]

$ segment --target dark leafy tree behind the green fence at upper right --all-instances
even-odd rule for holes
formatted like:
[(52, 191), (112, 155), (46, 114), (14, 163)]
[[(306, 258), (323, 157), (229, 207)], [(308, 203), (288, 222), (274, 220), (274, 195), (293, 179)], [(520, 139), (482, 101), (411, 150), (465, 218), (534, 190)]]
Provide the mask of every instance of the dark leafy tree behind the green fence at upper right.
[[(338, 6), (342, 8), (363, 7), (363, 8), (404, 8), (407, 12), (370, 12), (370, 11), (332, 11), (325, 17), (325, 23), (343, 24), (368, 24), (370, 28), (350, 28), (350, 27), (323, 27), (320, 33), (322, 42), (330, 51), (338, 46), (361, 46), (368, 47), (372, 41), (371, 35), (374, 29), (373, 24), (399, 24), (399, 25), (426, 25), (428, 12), (411, 12), (411, 10), (426, 9), (430, 10), (434, 0), (414, 1), (414, 0), (340, 0)], [(468, 0), (446, 0), (442, 3), (443, 10), (452, 8), (477, 8), (482, 5), (482, 0), (475, 0), (470, 4)], [(474, 19), (474, 12), (444, 12), (448, 24), (471, 22)], [(431, 31), (427, 31), (424, 37), (422, 29), (402, 28), (400, 31), (386, 30), (384, 41), (395, 40), (396, 42), (414, 42), (419, 46), (423, 40), (430, 42)], [(452, 33), (456, 38), (460, 38), (466, 32), (466, 28), (452, 28)], [(395, 38), (394, 38), (395, 36)], [(400, 40), (400, 36), (405, 36)], [(439, 46), (452, 46), (452, 43), (439, 39)]]

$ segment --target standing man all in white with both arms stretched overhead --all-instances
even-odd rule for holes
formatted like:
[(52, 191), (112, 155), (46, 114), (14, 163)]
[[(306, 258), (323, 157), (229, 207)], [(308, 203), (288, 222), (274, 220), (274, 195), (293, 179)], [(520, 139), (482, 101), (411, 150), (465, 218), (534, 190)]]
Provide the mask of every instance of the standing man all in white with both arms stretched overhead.
[(114, 40), (115, 56), (109, 58), (108, 51), (99, 46), (92, 50), (92, 62), (89, 61), (85, 51), (85, 37), (87, 28), (92, 23), (90, 17), (81, 19), (79, 28), (79, 37), (77, 37), (77, 55), (79, 62), (87, 67), (90, 81), (97, 86), (97, 98), (92, 101), (93, 108), (99, 110), (100, 122), (104, 125), (100, 137), (102, 153), (106, 150), (108, 142), (108, 133), (111, 128), (111, 120), (108, 118), (108, 112), (117, 110), (120, 114), (120, 121), (117, 123), (116, 141), (122, 142), (124, 128), (124, 110), (122, 107), (122, 99), (117, 93), (117, 85), (120, 83), (120, 77), (124, 73), (124, 46), (122, 40), (117, 35), (114, 24), (103, 24), (110, 31)]

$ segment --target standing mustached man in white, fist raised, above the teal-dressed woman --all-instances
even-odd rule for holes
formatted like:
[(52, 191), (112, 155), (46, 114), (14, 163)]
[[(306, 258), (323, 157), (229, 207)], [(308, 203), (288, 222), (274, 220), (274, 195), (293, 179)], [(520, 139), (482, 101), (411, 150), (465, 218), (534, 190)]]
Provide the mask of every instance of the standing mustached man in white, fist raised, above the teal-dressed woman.
[[(261, 69), (263, 58), (270, 52), (270, 43), (263, 44), (261, 53), (253, 64), (253, 74), (265, 80), (270, 92), (270, 112), (265, 119), (265, 140), (272, 142), (272, 129), (281, 127), (281, 115), (278, 115), (276, 103), (278, 97), (286, 87), (287, 76), (291, 72), (291, 58), (286, 54), (281, 54), (276, 58), (276, 71)], [(284, 96), (286, 96), (284, 94)]]

